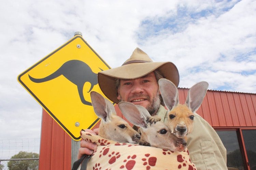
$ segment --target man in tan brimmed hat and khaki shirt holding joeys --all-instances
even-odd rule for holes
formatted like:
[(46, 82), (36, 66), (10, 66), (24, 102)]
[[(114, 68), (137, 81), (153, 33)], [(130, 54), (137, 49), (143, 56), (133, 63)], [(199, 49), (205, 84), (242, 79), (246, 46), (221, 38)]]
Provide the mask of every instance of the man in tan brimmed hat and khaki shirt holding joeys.
[[(139, 48), (133, 51), (122, 66), (98, 73), (99, 86), (110, 100), (141, 105), (152, 116), (158, 115), (161, 121), (166, 122), (167, 111), (163, 107), (158, 87), (160, 78), (166, 78), (178, 86), (179, 72), (176, 66), (171, 62), (153, 62)], [(98, 133), (97, 130), (95, 133)], [(97, 147), (84, 140), (81, 140), (80, 145), (78, 158), (83, 154), (91, 155)], [(187, 136), (187, 148), (197, 169), (227, 169), (226, 149), (221, 139), (198, 114), (195, 114), (194, 129)]]

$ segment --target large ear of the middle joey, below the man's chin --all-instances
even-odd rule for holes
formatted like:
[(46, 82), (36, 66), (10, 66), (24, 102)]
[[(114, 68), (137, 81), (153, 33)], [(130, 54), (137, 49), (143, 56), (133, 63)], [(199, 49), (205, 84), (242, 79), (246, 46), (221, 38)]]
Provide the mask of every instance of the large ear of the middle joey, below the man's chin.
[(119, 102), (118, 107), (129, 122), (136, 126), (147, 128), (146, 118), (136, 105), (129, 102)]

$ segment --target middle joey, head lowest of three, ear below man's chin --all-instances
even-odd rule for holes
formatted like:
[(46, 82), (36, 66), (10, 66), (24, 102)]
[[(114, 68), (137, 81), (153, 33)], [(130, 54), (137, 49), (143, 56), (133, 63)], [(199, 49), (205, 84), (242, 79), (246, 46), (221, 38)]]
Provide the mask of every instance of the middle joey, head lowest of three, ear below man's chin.
[(140, 127), (140, 145), (150, 144), (152, 147), (180, 152), (186, 149), (186, 141), (173, 135), (166, 124), (161, 121), (147, 122), (151, 115), (143, 106), (129, 102), (120, 102), (118, 106), (127, 120)]

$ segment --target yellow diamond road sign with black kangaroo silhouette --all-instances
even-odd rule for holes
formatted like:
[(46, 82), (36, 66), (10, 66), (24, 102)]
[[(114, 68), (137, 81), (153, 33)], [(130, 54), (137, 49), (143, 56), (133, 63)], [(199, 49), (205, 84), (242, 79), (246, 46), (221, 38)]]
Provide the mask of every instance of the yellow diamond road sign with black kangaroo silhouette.
[(90, 91), (103, 95), (97, 73), (107, 69), (108, 64), (86, 41), (75, 36), (17, 79), (74, 140), (79, 140), (82, 128), (91, 129), (99, 121)]

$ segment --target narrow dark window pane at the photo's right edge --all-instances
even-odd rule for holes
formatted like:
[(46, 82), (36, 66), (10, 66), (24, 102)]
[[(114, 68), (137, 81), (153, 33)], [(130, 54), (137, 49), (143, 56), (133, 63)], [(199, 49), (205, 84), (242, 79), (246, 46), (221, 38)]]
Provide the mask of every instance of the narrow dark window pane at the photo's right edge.
[(256, 170), (256, 130), (242, 130), (244, 145), (251, 170)]

